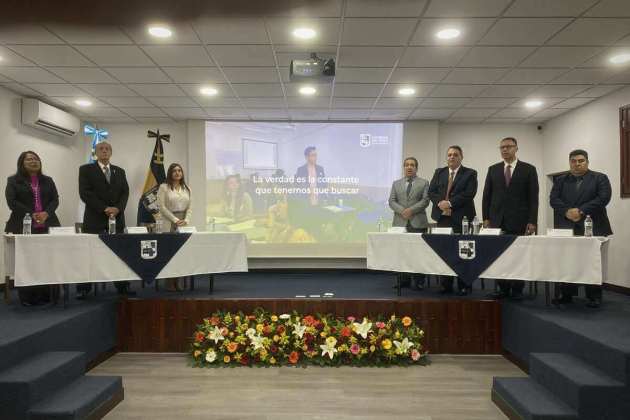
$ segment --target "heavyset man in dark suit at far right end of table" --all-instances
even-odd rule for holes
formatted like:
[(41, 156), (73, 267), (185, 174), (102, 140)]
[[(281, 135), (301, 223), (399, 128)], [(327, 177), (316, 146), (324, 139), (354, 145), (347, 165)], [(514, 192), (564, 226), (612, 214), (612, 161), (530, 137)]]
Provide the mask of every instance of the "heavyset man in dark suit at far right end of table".
[[(612, 188), (608, 177), (588, 169), (588, 153), (574, 150), (569, 153), (569, 173), (556, 177), (549, 194), (553, 208), (553, 225), (559, 229), (572, 229), (576, 236), (584, 236), (584, 219), (593, 219), (593, 235), (612, 235), (606, 205), (610, 202)], [(562, 296), (556, 303), (571, 303), (577, 294), (576, 284), (563, 283)], [(586, 285), (587, 306), (598, 308), (602, 300), (602, 288)]]

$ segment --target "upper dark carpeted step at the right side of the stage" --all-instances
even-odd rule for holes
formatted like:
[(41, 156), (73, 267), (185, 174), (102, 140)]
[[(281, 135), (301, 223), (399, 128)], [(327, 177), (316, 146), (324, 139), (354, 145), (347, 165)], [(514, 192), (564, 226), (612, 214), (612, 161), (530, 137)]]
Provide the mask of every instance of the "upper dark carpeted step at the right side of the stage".
[(532, 353), (529, 374), (580, 418), (625, 419), (628, 389), (603, 371), (565, 353)]

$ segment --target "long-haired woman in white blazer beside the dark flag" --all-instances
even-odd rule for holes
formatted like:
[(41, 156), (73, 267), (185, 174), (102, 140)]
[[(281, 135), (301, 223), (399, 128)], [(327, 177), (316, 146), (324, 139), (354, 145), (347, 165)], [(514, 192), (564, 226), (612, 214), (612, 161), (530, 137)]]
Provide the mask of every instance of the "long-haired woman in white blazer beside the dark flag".
[[(178, 227), (190, 224), (190, 195), (182, 166), (179, 163), (172, 163), (166, 172), (166, 182), (158, 189), (158, 204), (164, 231), (175, 232)], [(178, 279), (168, 279), (168, 290), (181, 289), (179, 283)]]

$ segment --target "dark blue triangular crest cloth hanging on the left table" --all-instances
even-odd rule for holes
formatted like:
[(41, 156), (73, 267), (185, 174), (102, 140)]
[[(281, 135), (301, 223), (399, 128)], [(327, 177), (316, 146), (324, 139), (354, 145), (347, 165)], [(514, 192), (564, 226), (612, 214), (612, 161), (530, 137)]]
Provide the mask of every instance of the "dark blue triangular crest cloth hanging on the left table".
[(190, 233), (99, 235), (142, 280), (153, 281), (186, 243)]

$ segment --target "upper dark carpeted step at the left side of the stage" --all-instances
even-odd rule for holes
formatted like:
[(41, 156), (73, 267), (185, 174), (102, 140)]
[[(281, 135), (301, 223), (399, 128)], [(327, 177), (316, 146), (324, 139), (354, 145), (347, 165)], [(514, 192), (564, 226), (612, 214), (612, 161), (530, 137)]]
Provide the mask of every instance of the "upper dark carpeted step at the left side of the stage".
[(20, 418), (28, 408), (85, 373), (85, 354), (38, 354), (0, 372), (0, 418)]

